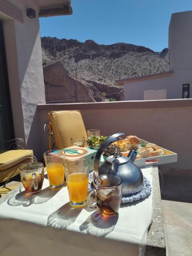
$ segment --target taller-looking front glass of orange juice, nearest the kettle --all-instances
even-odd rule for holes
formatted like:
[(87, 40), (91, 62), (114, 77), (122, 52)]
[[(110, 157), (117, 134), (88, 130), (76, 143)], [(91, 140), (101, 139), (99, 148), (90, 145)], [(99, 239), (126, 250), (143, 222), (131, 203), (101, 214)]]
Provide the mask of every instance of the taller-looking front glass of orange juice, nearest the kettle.
[(64, 166), (70, 205), (83, 207), (87, 203), (89, 161), (83, 158), (66, 160)]

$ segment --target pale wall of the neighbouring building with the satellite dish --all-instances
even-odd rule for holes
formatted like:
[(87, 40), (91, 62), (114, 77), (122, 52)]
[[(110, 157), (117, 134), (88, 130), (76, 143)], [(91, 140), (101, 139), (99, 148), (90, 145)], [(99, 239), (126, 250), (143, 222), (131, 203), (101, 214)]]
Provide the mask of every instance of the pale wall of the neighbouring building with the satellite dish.
[(124, 82), (124, 100), (143, 100), (143, 92), (167, 90), (167, 99), (182, 98), (182, 84), (190, 84), (192, 98), (192, 11), (172, 14), (169, 25), (169, 70), (172, 76)]

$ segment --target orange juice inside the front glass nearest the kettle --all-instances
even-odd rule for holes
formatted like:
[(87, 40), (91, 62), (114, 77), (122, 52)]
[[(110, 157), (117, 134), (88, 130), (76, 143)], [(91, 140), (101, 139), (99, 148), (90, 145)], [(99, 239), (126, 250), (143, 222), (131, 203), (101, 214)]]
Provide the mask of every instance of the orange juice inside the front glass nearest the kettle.
[(88, 194), (88, 175), (82, 173), (70, 174), (67, 179), (67, 186), (71, 202), (86, 203)]

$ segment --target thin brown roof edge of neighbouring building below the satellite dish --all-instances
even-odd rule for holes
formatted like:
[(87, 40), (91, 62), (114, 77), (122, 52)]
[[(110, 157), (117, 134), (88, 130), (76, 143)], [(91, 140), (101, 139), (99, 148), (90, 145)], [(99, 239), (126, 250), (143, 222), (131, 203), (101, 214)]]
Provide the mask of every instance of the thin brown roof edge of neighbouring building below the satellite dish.
[(142, 81), (142, 80), (149, 80), (149, 79), (155, 79), (155, 78), (160, 78), (160, 77), (164, 77), (164, 76), (172, 76), (172, 75), (173, 75), (173, 71), (168, 71), (168, 72), (156, 73), (156, 74), (152, 74), (152, 75), (144, 75), (144, 76), (120, 79), (120, 80), (116, 80), (115, 82), (118, 83), (119, 86), (123, 86), (124, 83), (138, 82), (138, 81)]

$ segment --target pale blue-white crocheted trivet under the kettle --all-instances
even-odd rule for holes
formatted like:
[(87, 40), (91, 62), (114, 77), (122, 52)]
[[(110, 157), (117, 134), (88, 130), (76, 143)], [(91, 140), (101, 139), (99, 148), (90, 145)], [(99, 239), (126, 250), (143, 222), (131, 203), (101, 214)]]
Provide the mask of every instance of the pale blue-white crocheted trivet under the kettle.
[[(93, 172), (89, 174), (89, 181), (92, 181), (92, 180), (93, 180)], [(91, 188), (94, 188), (93, 182), (89, 182), (88, 184), (88, 189), (91, 189)], [(147, 178), (143, 176), (143, 188), (141, 189), (141, 191), (129, 197), (122, 197), (121, 203), (122, 204), (132, 203), (134, 201), (144, 199), (151, 195), (151, 191), (152, 191), (152, 187), (151, 187), (150, 181), (148, 181)]]

